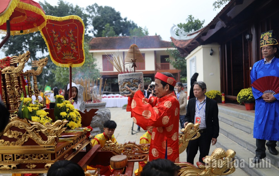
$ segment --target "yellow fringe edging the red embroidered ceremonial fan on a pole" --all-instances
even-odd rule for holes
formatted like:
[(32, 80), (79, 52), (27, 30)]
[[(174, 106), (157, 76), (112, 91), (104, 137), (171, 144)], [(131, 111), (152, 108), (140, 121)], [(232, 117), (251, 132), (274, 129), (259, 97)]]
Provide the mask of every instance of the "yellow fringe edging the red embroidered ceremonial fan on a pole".
[[(56, 21), (62, 21), (62, 20), (68, 20), (68, 19), (76, 19), (76, 20), (79, 20), (79, 21), (82, 22), (82, 25), (83, 25), (83, 33), (84, 33), (84, 30), (85, 30), (84, 23), (83, 23), (82, 19), (81, 19), (79, 16), (76, 16), (76, 15), (69, 15), (69, 16), (66, 16), (66, 17), (55, 17), (55, 16), (46, 15), (46, 19), (51, 19), (51, 20), (56, 20)], [(43, 39), (45, 40), (45, 43), (46, 43), (46, 45), (47, 45), (48, 51), (50, 51), (49, 45), (47, 44), (48, 41), (46, 40), (45, 35), (43, 34), (43, 32), (42, 32), (41, 30), (40, 30), (40, 32), (41, 32), (41, 35), (42, 35)], [(82, 41), (84, 41), (84, 35), (82, 35)], [(84, 48), (84, 43), (83, 43), (83, 42), (82, 42), (82, 48)], [(83, 59), (82, 63), (79, 63), (79, 64), (71, 64), (71, 63), (68, 63), (68, 64), (61, 64), (61, 63), (55, 61), (55, 60), (52, 58), (51, 54), (50, 54), (50, 59), (51, 59), (51, 61), (52, 61), (55, 65), (57, 65), (57, 66), (59, 66), (59, 67), (70, 67), (70, 66), (71, 66), (71, 67), (81, 67), (81, 66), (84, 64), (84, 62), (85, 62), (85, 52), (84, 52), (84, 49), (83, 49), (83, 56), (84, 56), (84, 59)]]

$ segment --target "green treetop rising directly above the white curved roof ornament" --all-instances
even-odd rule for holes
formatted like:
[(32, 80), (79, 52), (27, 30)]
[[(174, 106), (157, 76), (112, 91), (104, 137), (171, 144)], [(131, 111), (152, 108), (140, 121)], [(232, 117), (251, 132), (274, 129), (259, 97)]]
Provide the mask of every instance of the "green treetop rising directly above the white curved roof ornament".
[[(189, 15), (186, 19), (186, 23), (180, 23), (177, 24), (177, 27), (180, 29), (184, 29), (185, 32), (189, 32), (192, 29), (197, 30), (203, 27), (204, 20), (200, 21), (199, 19), (195, 19), (192, 15)], [(178, 34), (178, 31), (176, 31), (176, 35)]]

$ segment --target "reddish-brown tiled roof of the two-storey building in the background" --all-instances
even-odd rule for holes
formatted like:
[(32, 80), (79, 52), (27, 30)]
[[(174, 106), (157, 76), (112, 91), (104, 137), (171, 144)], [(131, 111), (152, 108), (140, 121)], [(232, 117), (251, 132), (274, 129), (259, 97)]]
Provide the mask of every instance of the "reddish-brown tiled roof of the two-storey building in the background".
[(136, 44), (140, 49), (148, 48), (172, 48), (170, 41), (161, 40), (160, 35), (143, 37), (96, 37), (90, 41), (90, 50), (114, 50), (129, 49)]

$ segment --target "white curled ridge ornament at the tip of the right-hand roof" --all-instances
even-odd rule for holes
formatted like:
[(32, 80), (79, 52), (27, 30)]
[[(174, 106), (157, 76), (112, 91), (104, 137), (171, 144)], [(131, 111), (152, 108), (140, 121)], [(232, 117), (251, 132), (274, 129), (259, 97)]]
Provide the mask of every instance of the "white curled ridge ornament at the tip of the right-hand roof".
[[(171, 27), (171, 37), (173, 37), (176, 40), (190, 40), (194, 37), (196, 37), (201, 29), (203, 29), (204, 27), (197, 29), (194, 31), (194, 29), (192, 29), (189, 32), (185, 32), (183, 29), (180, 29), (178, 26), (176, 26), (175, 24), (173, 24), (173, 26)], [(176, 31), (178, 31), (178, 35), (176, 35)]]

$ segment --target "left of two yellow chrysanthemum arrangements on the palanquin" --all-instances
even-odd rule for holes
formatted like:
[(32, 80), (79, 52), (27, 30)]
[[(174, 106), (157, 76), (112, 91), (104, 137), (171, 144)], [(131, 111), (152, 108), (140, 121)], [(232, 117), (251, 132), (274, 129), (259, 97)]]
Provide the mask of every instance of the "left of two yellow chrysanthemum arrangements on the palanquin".
[(33, 122), (39, 122), (42, 125), (45, 123), (52, 123), (52, 119), (47, 116), (48, 112), (41, 109), (43, 104), (40, 104), (38, 100), (32, 103), (31, 98), (21, 98), (21, 104), (18, 110), (18, 116), (20, 118), (27, 118)]

